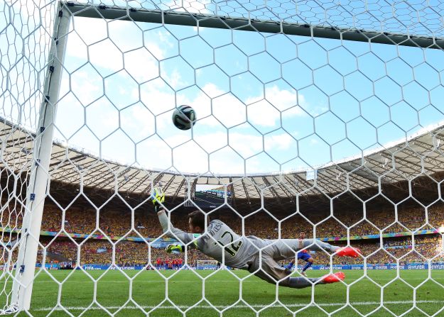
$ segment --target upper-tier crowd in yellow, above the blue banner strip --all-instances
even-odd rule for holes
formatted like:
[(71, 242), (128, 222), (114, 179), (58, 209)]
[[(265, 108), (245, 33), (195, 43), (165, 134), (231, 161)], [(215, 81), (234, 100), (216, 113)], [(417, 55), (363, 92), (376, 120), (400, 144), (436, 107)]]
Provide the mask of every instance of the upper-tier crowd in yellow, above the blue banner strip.
[[(20, 228), (23, 211), (14, 208), (4, 208), (0, 214), (1, 227)], [(175, 226), (188, 226), (186, 213), (172, 213)], [(400, 208), (394, 210), (333, 212), (332, 215), (311, 213), (309, 215), (296, 214), (281, 218), (278, 221), (265, 211), (247, 215), (242, 222), (235, 213), (219, 213), (217, 218), (227, 223), (239, 234), (257, 235), (262, 238), (294, 238), (298, 230), (305, 230), (308, 235), (317, 238), (347, 237), (347, 228), (350, 236), (378, 235), (379, 233), (401, 233), (420, 229), (444, 228), (444, 204), (435, 204), (428, 208), (427, 215), (423, 208)], [(428, 221), (426, 221), (428, 219)], [(243, 225), (242, 225), (243, 223)], [(280, 230), (279, 230), (280, 229)], [(65, 212), (55, 205), (48, 204), (43, 212), (41, 230), (50, 232), (82, 233), (107, 235), (110, 238), (123, 235), (157, 238), (162, 236), (157, 217), (153, 213), (136, 210), (117, 211), (102, 208), (94, 209), (68, 208)]]

